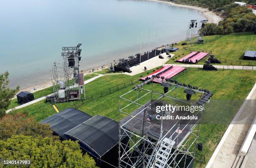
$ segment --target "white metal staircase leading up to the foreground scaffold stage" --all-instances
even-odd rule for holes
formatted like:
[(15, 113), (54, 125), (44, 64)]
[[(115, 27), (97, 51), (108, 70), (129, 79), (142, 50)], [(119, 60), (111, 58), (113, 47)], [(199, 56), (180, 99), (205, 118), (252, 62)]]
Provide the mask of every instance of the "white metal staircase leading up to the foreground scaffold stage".
[(172, 147), (175, 141), (172, 141), (172, 137), (164, 138), (156, 152), (156, 161), (154, 168), (164, 168), (167, 165), (167, 161), (170, 157)]

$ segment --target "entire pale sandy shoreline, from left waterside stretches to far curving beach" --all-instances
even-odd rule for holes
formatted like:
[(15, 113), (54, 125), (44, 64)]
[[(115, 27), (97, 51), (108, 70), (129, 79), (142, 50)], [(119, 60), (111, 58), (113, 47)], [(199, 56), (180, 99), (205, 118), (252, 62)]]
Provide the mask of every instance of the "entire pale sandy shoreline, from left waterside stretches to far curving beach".
[[(219, 21), (223, 20), (222, 17), (216, 15), (214, 12), (209, 11), (206, 8), (175, 4), (174, 2), (167, 2), (167, 1), (163, 1), (163, 0), (147, 0), (147, 1), (161, 2), (161, 3), (166, 3), (166, 4), (169, 4), (169, 5), (175, 6), (175, 7), (184, 7), (184, 8), (188, 8), (188, 9), (198, 10), (198, 11), (202, 12), (202, 15), (205, 16), (207, 18), (208, 22), (210, 22), (210, 23), (218, 24)], [(104, 64), (104, 68), (108, 68), (108, 66), (109, 66), (109, 64)], [(97, 71), (100, 71), (102, 68), (101, 67), (95, 67), (94, 69), (95, 69), (94, 72), (97, 72)], [(84, 75), (92, 74), (91, 69), (83, 70), (83, 72), (84, 72)], [(46, 83), (38, 84), (36, 86), (28, 87), (26, 89), (21, 89), (20, 91), (29, 91), (31, 93), (34, 93), (36, 91), (40, 91), (40, 90), (46, 89), (46, 88), (51, 87), (51, 86), (52, 86), (52, 82), (49, 81), (49, 82), (46, 82)], [(36, 90), (34, 90), (34, 88), (36, 88)]]

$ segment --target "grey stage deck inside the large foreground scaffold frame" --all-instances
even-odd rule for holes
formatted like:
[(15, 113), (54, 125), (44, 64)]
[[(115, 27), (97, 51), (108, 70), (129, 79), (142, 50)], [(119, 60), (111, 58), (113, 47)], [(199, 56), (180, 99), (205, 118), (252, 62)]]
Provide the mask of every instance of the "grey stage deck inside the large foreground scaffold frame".
[[(146, 118), (151, 114), (151, 101), (146, 103), (144, 106), (147, 106), (146, 110)], [(144, 117), (144, 111), (142, 111), (145, 107), (142, 106), (141, 108), (137, 109), (133, 113), (131, 113), (131, 116), (126, 116), (124, 119), (120, 121), (120, 124), (123, 125), (127, 121), (127, 123), (124, 125), (125, 128), (127, 128), (130, 131), (134, 131), (138, 134), (141, 134), (142, 125), (143, 125), (143, 117)], [(141, 112), (140, 112), (141, 111)], [(160, 114), (159, 114), (160, 115)], [(172, 115), (172, 114), (165, 114), (165, 115)], [(130, 120), (131, 119), (131, 120)], [(130, 121), (129, 121), (130, 120)], [(151, 138), (155, 140), (159, 140), (160, 133), (161, 133), (161, 120), (155, 119), (152, 121), (146, 121), (145, 126), (145, 133), (146, 135), (150, 136)], [(171, 137), (172, 140), (175, 141), (174, 148), (177, 146), (180, 146), (183, 141), (187, 138), (189, 135), (190, 125), (191, 127), (194, 127), (195, 124), (177, 124), (177, 120), (171, 120), (166, 119), (163, 120), (163, 136), (167, 133), (166, 137)], [(178, 131), (179, 130), (179, 131)], [(179, 135), (178, 135), (179, 132)]]

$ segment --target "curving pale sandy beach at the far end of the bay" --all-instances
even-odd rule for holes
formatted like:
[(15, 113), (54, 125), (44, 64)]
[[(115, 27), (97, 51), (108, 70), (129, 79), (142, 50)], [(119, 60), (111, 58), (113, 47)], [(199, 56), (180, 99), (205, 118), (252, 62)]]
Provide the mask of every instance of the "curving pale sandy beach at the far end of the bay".
[(189, 6), (189, 5), (180, 5), (180, 4), (175, 4), (173, 2), (167, 2), (167, 1), (162, 1), (162, 0), (148, 0), (148, 1), (162, 2), (162, 3), (166, 3), (166, 4), (169, 4), (172, 6), (176, 6), (176, 7), (185, 7), (185, 8), (189, 8), (189, 9), (199, 10), (202, 12), (202, 15), (204, 15), (207, 18), (208, 22), (210, 22), (210, 23), (218, 24), (219, 21), (223, 20), (222, 17), (218, 16), (216, 13), (214, 13), (206, 8)]

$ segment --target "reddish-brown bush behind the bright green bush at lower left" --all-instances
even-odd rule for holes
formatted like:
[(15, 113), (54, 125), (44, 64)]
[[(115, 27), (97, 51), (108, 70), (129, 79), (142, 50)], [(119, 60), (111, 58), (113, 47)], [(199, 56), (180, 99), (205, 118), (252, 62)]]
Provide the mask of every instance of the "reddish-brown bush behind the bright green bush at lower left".
[(6, 140), (12, 135), (27, 135), (36, 138), (53, 136), (49, 125), (26, 118), (26, 114), (8, 114), (0, 119), (0, 140)]

